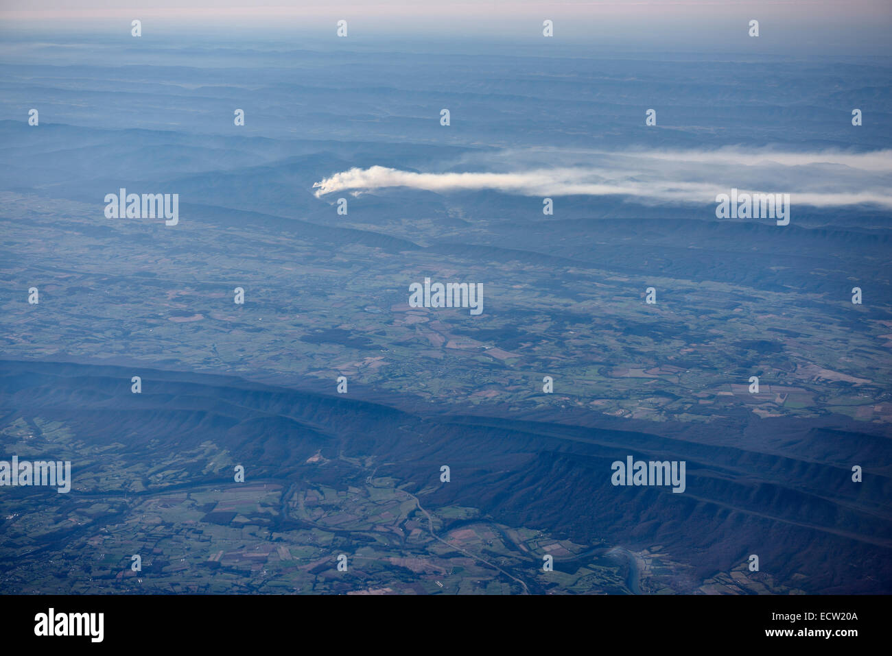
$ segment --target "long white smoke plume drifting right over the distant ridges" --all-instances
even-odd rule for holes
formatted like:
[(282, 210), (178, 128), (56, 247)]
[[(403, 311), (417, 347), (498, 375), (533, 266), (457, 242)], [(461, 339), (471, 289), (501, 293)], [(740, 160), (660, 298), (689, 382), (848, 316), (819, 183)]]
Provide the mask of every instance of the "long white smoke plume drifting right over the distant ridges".
[[(793, 202), (814, 207), (868, 204), (892, 209), (892, 151), (531, 150), (488, 153), (475, 159), (450, 163), (451, 170), (431, 173), (351, 168), (313, 188), (317, 197), (405, 187), (435, 193), (491, 190), (541, 197), (624, 195), (649, 204), (698, 204), (714, 202), (716, 194), (736, 187), (749, 193), (789, 193)], [(462, 165), (492, 170), (454, 170)]]

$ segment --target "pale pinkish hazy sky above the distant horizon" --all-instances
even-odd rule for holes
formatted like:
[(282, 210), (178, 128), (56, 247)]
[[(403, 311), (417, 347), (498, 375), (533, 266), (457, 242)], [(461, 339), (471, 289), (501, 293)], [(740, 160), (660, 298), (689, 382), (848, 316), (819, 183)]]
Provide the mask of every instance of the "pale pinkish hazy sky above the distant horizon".
[[(0, 0), (5, 29), (107, 28), (138, 18), (153, 25), (295, 34), (335, 32), (348, 21), (349, 36), (391, 34), (441, 37), (541, 38), (542, 21), (554, 21), (556, 39), (620, 49), (687, 47), (694, 51), (753, 48), (790, 52), (836, 50), (888, 53), (889, 0), (506, 0), (494, 2), (283, 2), (255, 0)], [(759, 21), (759, 40), (748, 23)], [(165, 29), (168, 29), (167, 27)]]

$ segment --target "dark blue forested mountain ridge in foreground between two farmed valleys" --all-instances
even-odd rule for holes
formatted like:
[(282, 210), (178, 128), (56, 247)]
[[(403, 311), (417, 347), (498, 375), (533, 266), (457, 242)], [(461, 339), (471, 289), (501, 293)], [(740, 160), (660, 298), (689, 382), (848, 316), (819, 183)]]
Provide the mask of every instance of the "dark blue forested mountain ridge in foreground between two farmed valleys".
[[(581, 542), (663, 545), (701, 578), (749, 553), (778, 580), (804, 575), (797, 586), (808, 592), (880, 592), (892, 578), (892, 513), (876, 501), (892, 491), (892, 447), (863, 432), (799, 422), (800, 435), (782, 444), (741, 434), (735, 446), (730, 439), (718, 446), (558, 422), (425, 420), (380, 403), (232, 377), (141, 370), (143, 393), (135, 395), (133, 372), (118, 367), (4, 361), (2, 372), (4, 426), (29, 416), (63, 422), (78, 439), (121, 449), (127, 461), (168, 458), (212, 437), (255, 480), (343, 486), (368, 476), (368, 467), (339, 459), (346, 455), (370, 459), (378, 475), (410, 482), (407, 489), (435, 485), (448, 463), (451, 482), (425, 502), (434, 512), (460, 504)], [(319, 451), (327, 463), (306, 463)], [(849, 463), (866, 453), (887, 465), (855, 484)], [(685, 460), (687, 489), (612, 486), (610, 464), (626, 455)], [(72, 470), (76, 495), (77, 462)], [(190, 477), (202, 481), (201, 467)]]

